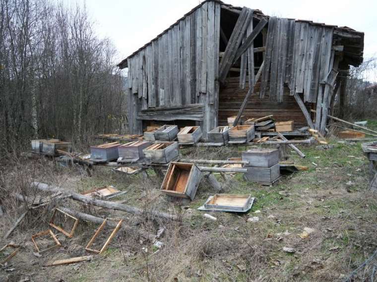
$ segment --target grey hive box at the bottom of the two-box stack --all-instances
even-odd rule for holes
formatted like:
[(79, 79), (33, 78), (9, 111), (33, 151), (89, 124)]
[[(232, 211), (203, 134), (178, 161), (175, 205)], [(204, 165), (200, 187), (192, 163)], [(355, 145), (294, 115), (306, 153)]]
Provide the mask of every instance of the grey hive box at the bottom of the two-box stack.
[(271, 167), (245, 167), (248, 172), (244, 174), (246, 180), (258, 182), (262, 185), (272, 185), (280, 177), (279, 164)]

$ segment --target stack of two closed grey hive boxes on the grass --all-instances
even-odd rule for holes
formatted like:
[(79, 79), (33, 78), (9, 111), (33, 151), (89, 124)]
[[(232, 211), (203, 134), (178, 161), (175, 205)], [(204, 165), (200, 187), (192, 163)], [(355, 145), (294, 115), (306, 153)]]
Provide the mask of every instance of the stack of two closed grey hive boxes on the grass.
[(242, 152), (242, 160), (248, 161), (244, 165), (248, 169), (245, 178), (248, 181), (262, 185), (272, 185), (280, 178), (279, 151), (277, 149), (251, 149)]

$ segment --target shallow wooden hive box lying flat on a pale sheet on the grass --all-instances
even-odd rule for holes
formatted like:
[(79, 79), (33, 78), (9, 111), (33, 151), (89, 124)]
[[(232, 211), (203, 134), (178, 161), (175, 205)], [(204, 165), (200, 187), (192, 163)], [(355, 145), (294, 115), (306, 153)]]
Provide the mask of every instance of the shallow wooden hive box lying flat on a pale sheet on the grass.
[(251, 195), (215, 194), (213, 197), (208, 198), (204, 208), (245, 212), (250, 209), (252, 200)]

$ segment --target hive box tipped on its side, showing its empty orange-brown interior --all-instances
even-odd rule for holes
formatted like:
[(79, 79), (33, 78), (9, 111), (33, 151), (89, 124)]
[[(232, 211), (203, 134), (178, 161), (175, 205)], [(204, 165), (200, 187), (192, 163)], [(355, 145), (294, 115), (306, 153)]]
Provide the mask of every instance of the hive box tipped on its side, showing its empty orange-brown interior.
[(195, 197), (201, 172), (195, 164), (171, 162), (161, 185), (165, 194), (181, 198)]

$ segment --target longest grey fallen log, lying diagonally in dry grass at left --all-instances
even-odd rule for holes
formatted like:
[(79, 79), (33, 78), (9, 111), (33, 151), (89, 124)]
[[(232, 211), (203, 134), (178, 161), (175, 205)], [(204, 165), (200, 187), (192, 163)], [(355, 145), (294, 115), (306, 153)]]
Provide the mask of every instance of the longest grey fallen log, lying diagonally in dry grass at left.
[(103, 201), (103, 200), (98, 200), (94, 199), (88, 196), (84, 196), (72, 191), (65, 191), (59, 187), (55, 187), (52, 185), (47, 185), (45, 183), (40, 183), (40, 182), (32, 182), (31, 183), (32, 188), (37, 188), (42, 191), (47, 191), (47, 192), (62, 192), (63, 194), (70, 194), (71, 198), (76, 201), (83, 202), (85, 204), (89, 205), (94, 205), (102, 208), (107, 208), (107, 209), (115, 209), (115, 210), (120, 210), (120, 211), (125, 211), (131, 214), (136, 214), (136, 215), (142, 215), (144, 212), (149, 212), (150, 214), (157, 216), (162, 219), (167, 219), (167, 220), (177, 220), (177, 216), (164, 213), (164, 212), (159, 212), (159, 211), (144, 211), (143, 209), (125, 205), (125, 204), (119, 204), (115, 202), (110, 202), (110, 201)]

